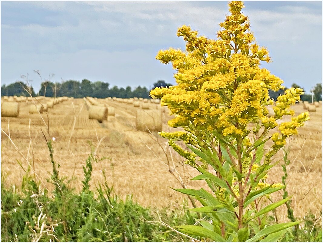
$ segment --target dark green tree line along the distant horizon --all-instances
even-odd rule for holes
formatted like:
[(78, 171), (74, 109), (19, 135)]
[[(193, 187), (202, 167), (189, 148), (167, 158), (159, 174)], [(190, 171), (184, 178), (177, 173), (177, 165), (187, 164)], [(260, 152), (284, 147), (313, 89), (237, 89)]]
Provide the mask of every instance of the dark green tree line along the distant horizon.
[[(169, 87), (171, 83), (166, 83), (164, 80), (158, 80), (156, 83), (153, 83), (153, 89), (155, 87)], [(294, 88), (301, 88), (296, 83), (292, 84)], [(287, 89), (287, 88), (285, 88)], [(305, 92), (304, 88), (303, 91)], [(45, 81), (41, 83), (41, 87), (38, 93), (34, 92), (32, 86), (28, 86), (22, 81), (11, 83), (9, 85), (1, 86), (1, 96), (29, 96), (28, 93), (31, 93), (32, 96), (46, 96), (46, 97), (61, 97), (68, 96), (74, 98), (83, 98), (87, 96), (96, 97), (96, 98), (106, 98), (106, 97), (117, 97), (117, 98), (150, 98), (149, 93), (150, 89), (146, 87), (138, 86), (135, 89), (131, 90), (130, 86), (126, 88), (118, 88), (113, 86), (110, 88), (109, 83), (97, 81), (91, 82), (88, 79), (83, 79), (81, 82), (76, 80), (68, 80), (62, 83), (53, 83), (50, 81)], [(279, 95), (284, 94), (285, 90), (281, 89), (278, 91), (269, 90), (269, 97), (276, 101)], [(322, 100), (322, 84), (317, 83), (316, 86), (311, 90), (311, 93), (314, 94), (313, 101)], [(302, 101), (312, 102), (311, 94), (301, 95)]]

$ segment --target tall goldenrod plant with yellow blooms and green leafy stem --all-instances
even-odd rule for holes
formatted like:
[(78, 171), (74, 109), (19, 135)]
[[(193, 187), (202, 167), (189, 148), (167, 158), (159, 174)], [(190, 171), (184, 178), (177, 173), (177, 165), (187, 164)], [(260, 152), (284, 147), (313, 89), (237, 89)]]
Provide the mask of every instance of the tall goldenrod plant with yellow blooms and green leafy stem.
[[(267, 213), (290, 197), (262, 206), (261, 200), (283, 188), (266, 183), (267, 173), (277, 164), (273, 156), (284, 147), (286, 138), (309, 119), (308, 112), (292, 117), (279, 126), (278, 119), (293, 116), (290, 109), (300, 88), (290, 88), (274, 105), (268, 90), (283, 89), (283, 81), (260, 68), (271, 61), (265, 47), (259, 47), (250, 31), (248, 17), (241, 12), (242, 1), (228, 4), (230, 15), (220, 23), (217, 40), (198, 36), (189, 26), (178, 29), (186, 51), (161, 50), (156, 58), (172, 63), (177, 71), (176, 86), (155, 88), (152, 98), (160, 98), (175, 118), (171, 127), (183, 131), (160, 132), (169, 145), (201, 174), (209, 188), (175, 189), (194, 196), (203, 207), (192, 211), (208, 215), (200, 225), (177, 226), (183, 233), (214, 241), (277, 241), (299, 222), (268, 225)], [(274, 116), (268, 115), (271, 105)], [(269, 135), (270, 130), (278, 127)], [(183, 141), (188, 150), (176, 144)], [(269, 144), (269, 149), (264, 149)]]

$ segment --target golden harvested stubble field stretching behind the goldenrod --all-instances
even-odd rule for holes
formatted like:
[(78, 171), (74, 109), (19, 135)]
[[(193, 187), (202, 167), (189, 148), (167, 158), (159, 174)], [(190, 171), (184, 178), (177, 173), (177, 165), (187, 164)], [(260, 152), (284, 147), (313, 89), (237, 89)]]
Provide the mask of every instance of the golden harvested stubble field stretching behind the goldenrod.
[[(54, 159), (61, 165), (62, 176), (70, 178), (74, 175), (78, 178), (71, 182), (74, 186), (81, 188), (82, 165), (90, 153), (88, 141), (97, 146), (101, 138), (96, 154), (110, 159), (93, 165), (92, 186), (102, 182), (101, 170), (105, 170), (110, 185), (114, 186), (120, 196), (132, 193), (134, 200), (144, 206), (161, 207), (171, 204), (178, 207), (184, 195), (170, 188), (180, 188), (181, 184), (165, 166), (168, 161), (163, 149), (171, 160), (170, 168), (177, 170), (187, 187), (200, 188), (203, 185), (202, 182), (189, 180), (197, 174), (196, 171), (189, 166), (182, 166), (183, 159), (168, 149), (165, 139), (156, 133), (150, 135), (134, 128), (136, 109), (141, 109), (140, 107), (113, 100), (100, 102), (115, 108), (115, 116), (108, 116), (108, 120), (102, 124), (88, 119), (89, 112), (83, 99), (64, 101), (48, 110), (49, 136), (56, 138), (53, 143)], [(35, 167), (44, 185), (50, 187), (45, 178), (52, 167), (48, 148), (40, 131), (40, 128), (46, 130), (46, 127), (40, 114), (29, 114), (26, 107), (30, 104), (31, 102), (20, 103), (19, 118), (2, 117), (1, 128), (7, 134), (8, 127), (10, 128), (10, 137), (17, 148)], [(146, 104), (150, 109), (156, 110), (156, 104)], [(296, 114), (304, 111), (302, 104), (295, 105), (294, 109)], [(162, 129), (165, 131), (174, 130), (167, 126), (167, 121), (171, 118), (168, 114), (168, 110), (162, 113)], [(46, 114), (41, 116), (46, 120)], [(291, 164), (288, 168), (287, 189), (289, 194), (295, 193), (292, 206), (296, 216), (305, 216), (308, 211), (320, 214), (322, 208), (322, 106), (316, 112), (311, 112), (310, 116), (311, 120), (306, 126), (301, 127), (299, 134), (289, 141)], [(282, 159), (282, 153), (277, 154), (276, 159)], [(5, 184), (20, 183), (19, 179), (25, 172), (19, 167), (17, 160), (24, 166), (27, 165), (26, 160), (2, 133), (1, 169)], [(282, 175), (281, 167), (276, 166), (268, 180), (281, 182)], [(286, 220), (285, 211), (285, 206), (278, 209), (279, 221)]]

